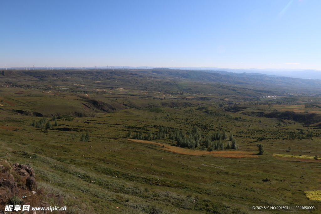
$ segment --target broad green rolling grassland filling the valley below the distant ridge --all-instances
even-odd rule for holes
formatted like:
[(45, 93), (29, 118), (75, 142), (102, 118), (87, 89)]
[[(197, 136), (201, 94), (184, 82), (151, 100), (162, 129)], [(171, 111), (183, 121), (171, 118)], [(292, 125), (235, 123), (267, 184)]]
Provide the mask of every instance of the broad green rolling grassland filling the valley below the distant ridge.
[[(264, 100), (272, 89), (116, 74), (1, 86), (0, 159), (30, 163), (39, 188), (63, 195), (68, 213), (253, 213), (248, 206), (320, 204), (305, 194), (320, 188), (320, 160), (302, 158), (321, 156), (319, 97), (273, 89), (279, 97)], [(42, 118), (52, 127), (30, 126)], [(169, 130), (160, 139), (126, 137), (129, 130), (159, 134), (160, 126)], [(203, 141), (182, 148), (169, 139), (195, 126), (202, 139), (233, 134), (238, 150), (207, 151)]]

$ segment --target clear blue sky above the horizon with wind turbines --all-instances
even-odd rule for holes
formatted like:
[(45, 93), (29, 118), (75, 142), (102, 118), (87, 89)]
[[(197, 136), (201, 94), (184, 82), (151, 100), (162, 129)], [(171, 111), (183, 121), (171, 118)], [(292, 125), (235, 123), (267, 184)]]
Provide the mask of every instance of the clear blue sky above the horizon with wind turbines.
[(3, 0), (0, 67), (321, 70), (320, 9), (320, 0)]

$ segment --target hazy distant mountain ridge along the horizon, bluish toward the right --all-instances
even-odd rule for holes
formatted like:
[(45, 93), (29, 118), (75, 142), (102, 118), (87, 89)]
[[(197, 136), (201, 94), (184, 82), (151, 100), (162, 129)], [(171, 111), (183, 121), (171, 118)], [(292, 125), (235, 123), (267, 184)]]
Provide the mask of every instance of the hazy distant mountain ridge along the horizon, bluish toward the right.
[[(126, 73), (127, 75), (143, 75), (144, 77), (157, 77), (160, 79), (175, 79), (179, 81), (204, 81), (213, 83), (232, 83), (239, 85), (248, 86), (259, 86), (259, 87), (276, 87), (282, 89), (294, 89), (294, 88), (305, 88), (305, 89), (317, 89), (321, 87), (321, 80), (317, 79), (301, 79), (284, 77), (277, 75), (267, 75), (261, 73), (231, 73), (227, 71), (211, 71), (211, 70), (180, 70), (180, 69), (169, 69), (169, 68), (154, 68), (154, 69), (116, 69), (114, 71), (109, 69), (102, 70), (35, 70), (35, 71), (15, 71), (15, 70), (4, 70), (0, 72), (0, 82), (20, 82), (30, 80), (41, 80), (41, 78), (55, 78), (59, 75), (64, 77), (72, 77), (74, 75), (91, 76), (95, 75), (98, 78), (104, 78), (106, 73)], [(143, 77), (142, 76), (142, 77)], [(137, 76), (137, 78), (139, 78)]]

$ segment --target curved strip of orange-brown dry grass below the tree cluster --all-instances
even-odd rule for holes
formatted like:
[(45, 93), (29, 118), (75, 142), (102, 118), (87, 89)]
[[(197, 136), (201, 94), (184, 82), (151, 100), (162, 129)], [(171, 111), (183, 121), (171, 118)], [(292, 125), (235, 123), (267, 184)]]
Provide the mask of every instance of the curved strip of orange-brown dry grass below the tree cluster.
[(134, 139), (128, 139), (128, 141), (164, 146), (164, 147), (161, 147), (160, 149), (164, 151), (182, 154), (182, 155), (213, 155), (212, 157), (220, 157), (220, 158), (222, 157), (224, 158), (258, 157), (253, 152), (248, 152), (248, 151), (201, 151), (201, 150), (191, 150), (191, 149), (185, 149), (185, 148), (180, 148), (176, 146), (170, 146), (167, 144), (162, 144), (162, 143), (157, 143), (152, 141), (142, 141), (142, 140), (134, 140)]

